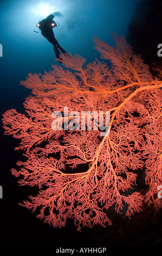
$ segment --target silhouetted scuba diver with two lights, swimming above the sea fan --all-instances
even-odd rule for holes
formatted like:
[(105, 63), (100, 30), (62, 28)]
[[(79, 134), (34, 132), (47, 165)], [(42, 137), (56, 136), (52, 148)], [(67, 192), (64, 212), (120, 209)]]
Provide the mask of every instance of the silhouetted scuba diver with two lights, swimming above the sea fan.
[[(41, 30), (41, 34), (54, 46), (54, 51), (56, 58), (60, 58), (60, 51), (62, 53), (67, 53), (57, 42), (53, 28), (56, 27), (55, 21), (53, 21), (54, 15), (50, 14), (46, 19), (41, 20), (36, 26)], [(60, 51), (59, 51), (59, 49)], [(60, 62), (61, 63), (61, 62)]]

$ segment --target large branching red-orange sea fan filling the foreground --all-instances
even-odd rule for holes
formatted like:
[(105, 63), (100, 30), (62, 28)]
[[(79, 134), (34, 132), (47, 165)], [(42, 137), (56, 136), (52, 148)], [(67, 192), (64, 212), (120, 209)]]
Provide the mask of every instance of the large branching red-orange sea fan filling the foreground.
[(144, 169), (145, 201), (161, 208), (162, 82), (123, 36), (113, 36), (114, 48), (95, 38), (111, 69), (99, 60), (62, 56), (65, 69), (55, 65), (21, 82), (34, 95), (24, 103), (26, 114), (11, 109), (3, 115), (5, 134), (21, 139), (17, 149), (27, 157), (12, 174), (20, 185), (40, 189), (21, 205), (54, 227), (68, 218), (77, 230), (111, 224), (113, 205), (117, 212), (127, 207), (128, 217), (139, 212), (145, 195), (132, 191)]

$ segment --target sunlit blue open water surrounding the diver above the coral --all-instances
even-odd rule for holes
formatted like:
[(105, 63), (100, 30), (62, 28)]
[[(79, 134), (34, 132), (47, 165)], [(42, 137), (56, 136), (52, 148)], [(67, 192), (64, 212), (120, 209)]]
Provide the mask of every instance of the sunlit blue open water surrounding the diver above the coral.
[(54, 19), (60, 24), (54, 28), (55, 38), (68, 53), (92, 62), (99, 58), (93, 36), (113, 45), (111, 32), (125, 35), (133, 10), (134, 0), (1, 1), (1, 108), (22, 104), (27, 90), (19, 84), (29, 72), (43, 74), (58, 64), (53, 45), (41, 32), (33, 32), (40, 19), (60, 12)]

